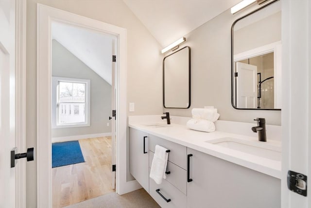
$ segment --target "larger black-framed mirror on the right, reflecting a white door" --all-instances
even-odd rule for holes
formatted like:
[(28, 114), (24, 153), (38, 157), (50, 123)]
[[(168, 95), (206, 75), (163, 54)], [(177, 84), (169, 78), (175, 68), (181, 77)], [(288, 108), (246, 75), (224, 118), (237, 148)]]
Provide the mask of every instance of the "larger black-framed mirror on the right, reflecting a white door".
[(231, 99), (236, 109), (281, 109), (281, 2), (237, 19), (231, 28)]

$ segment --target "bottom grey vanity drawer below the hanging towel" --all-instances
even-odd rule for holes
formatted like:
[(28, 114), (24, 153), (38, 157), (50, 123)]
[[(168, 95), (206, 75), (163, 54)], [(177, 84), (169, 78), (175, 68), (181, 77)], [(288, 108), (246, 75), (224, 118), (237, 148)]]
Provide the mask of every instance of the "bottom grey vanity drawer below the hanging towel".
[[(149, 194), (160, 205), (161, 208), (186, 208), (187, 196), (180, 190), (176, 189), (168, 181), (163, 180), (161, 184), (156, 184), (153, 179), (149, 179)], [(170, 202), (166, 202), (157, 192), (159, 190), (166, 199), (171, 199)]]

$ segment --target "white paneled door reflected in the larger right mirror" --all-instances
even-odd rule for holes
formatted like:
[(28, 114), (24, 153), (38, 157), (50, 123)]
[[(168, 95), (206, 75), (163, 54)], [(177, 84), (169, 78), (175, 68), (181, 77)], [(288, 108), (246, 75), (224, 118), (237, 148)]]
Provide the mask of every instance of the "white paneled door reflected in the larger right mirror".
[(236, 62), (237, 108), (257, 108), (257, 66)]

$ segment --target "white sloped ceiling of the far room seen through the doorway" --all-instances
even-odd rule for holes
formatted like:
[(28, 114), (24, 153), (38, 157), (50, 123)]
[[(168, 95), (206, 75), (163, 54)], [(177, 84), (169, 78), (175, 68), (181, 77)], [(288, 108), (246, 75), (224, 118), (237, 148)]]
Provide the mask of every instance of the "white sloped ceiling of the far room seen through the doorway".
[(108, 34), (52, 22), (52, 39), (57, 40), (110, 85), (113, 38)]

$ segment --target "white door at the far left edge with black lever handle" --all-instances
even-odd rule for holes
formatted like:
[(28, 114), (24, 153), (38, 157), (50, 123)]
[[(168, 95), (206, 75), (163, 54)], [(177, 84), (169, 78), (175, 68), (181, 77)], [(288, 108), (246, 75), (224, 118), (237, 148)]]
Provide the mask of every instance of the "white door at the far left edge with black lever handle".
[(15, 0), (0, 0), (0, 117), (0, 207), (15, 208)]

